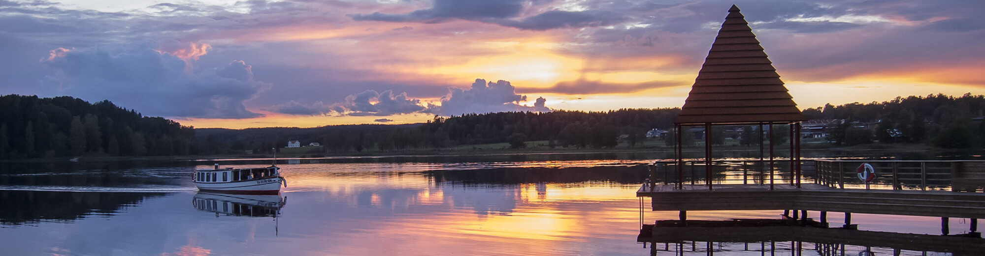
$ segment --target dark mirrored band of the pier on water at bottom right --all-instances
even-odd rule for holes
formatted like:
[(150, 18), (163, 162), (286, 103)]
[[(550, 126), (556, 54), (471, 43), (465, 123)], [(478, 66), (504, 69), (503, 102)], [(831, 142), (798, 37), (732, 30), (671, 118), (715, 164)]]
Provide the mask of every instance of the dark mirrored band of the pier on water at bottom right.
[(811, 226), (644, 226), (650, 255), (979, 255), (981, 238)]

